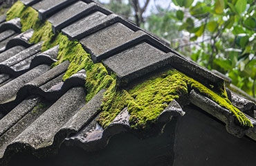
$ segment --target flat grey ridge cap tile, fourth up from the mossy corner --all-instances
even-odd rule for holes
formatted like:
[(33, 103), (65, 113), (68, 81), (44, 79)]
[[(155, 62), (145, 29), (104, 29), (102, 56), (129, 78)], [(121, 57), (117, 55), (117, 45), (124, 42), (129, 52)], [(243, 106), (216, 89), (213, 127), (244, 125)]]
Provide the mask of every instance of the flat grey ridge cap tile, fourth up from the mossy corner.
[(87, 3), (77, 1), (71, 6), (60, 10), (60, 12), (57, 12), (55, 15), (50, 17), (48, 21), (52, 24), (53, 33), (57, 33), (57, 30), (61, 30), (62, 28), (88, 14), (86, 7)]

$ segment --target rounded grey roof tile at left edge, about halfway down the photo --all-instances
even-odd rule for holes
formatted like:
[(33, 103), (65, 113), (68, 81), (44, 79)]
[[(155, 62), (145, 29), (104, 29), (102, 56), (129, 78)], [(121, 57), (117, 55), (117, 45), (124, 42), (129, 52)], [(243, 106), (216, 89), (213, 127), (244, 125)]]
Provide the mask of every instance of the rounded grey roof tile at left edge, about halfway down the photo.
[(45, 73), (49, 69), (50, 69), (50, 66), (42, 64), (40, 66), (33, 68), (27, 73), (24, 73), (24, 75), (17, 77), (15, 80), (12, 80), (11, 82), (8, 82), (7, 84), (1, 86), (0, 87), (0, 96), (1, 96), (0, 103), (6, 102), (11, 98), (15, 97), (19, 89), (24, 84), (30, 82), (35, 77), (42, 75), (42, 73)]

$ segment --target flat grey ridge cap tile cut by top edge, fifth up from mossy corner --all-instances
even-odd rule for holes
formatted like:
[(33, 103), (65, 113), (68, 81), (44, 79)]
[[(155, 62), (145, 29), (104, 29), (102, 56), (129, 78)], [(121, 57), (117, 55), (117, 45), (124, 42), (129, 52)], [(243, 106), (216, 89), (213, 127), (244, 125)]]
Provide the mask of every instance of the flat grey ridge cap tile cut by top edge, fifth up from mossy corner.
[(77, 0), (42, 0), (38, 3), (35, 3), (35, 5), (33, 5), (33, 8), (38, 11), (39, 19), (44, 20), (75, 1)]

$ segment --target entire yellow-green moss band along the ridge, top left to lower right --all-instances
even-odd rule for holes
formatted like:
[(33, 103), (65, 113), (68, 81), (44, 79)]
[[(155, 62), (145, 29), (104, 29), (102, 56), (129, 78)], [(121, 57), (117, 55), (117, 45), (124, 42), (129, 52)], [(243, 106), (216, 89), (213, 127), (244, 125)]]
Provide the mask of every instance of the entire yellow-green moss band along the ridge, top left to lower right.
[(37, 16), (38, 12), (36, 10), (17, 1), (8, 11), (7, 20), (19, 17), (21, 18), (22, 31), (33, 28), (35, 33), (30, 42), (44, 41), (42, 50), (47, 50), (57, 44), (60, 45), (58, 61), (53, 66), (65, 60), (71, 62), (63, 80), (81, 69), (86, 70), (87, 102), (101, 89), (107, 89), (104, 94), (102, 113), (100, 113), (98, 120), (103, 127), (107, 127), (113, 118), (124, 107), (127, 107), (131, 114), (129, 119), (131, 127), (134, 129), (148, 129), (156, 122), (156, 118), (167, 107), (167, 104), (174, 99), (179, 100), (179, 98), (188, 95), (190, 88), (196, 89), (217, 102), (221, 107), (234, 113), (242, 126), (252, 127), (250, 120), (228, 100), (224, 85), (219, 89), (219, 93), (216, 93), (176, 70), (157, 75), (142, 84), (138, 84), (133, 89), (119, 89), (116, 85), (116, 77), (109, 75), (107, 69), (101, 63), (94, 64), (90, 55), (86, 53), (79, 42), (70, 41), (62, 33), (54, 35), (51, 24), (48, 21), (40, 21)]

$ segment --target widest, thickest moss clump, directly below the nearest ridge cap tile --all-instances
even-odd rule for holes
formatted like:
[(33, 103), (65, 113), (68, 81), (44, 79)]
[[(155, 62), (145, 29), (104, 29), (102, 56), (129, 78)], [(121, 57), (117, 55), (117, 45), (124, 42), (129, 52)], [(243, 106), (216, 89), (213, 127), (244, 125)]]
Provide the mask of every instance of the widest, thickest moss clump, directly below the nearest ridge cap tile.
[[(116, 89), (114, 83), (104, 96), (100, 124), (106, 127), (125, 107), (131, 114), (129, 122), (134, 129), (145, 129), (156, 122), (156, 118), (173, 99), (188, 94), (187, 84), (181, 75), (162, 74), (135, 86), (129, 91)], [(115, 87), (115, 88), (114, 88)]]

